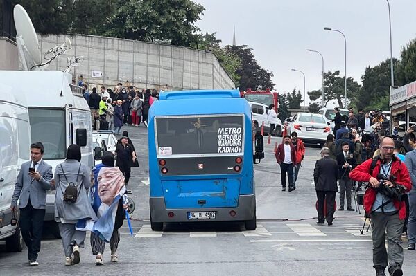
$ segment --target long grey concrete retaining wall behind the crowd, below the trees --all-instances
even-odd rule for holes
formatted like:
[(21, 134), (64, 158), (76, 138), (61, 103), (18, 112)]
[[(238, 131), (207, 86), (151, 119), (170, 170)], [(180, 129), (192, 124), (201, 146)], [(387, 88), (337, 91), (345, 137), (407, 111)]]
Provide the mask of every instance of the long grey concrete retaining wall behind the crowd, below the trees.
[[(64, 70), (66, 57), (83, 55), (83, 63), (71, 73), (84, 82), (112, 87), (117, 82), (165, 91), (184, 89), (232, 89), (235, 84), (213, 53), (179, 46), (152, 44), (91, 35), (69, 36), (72, 50), (49, 64)], [(42, 53), (64, 42), (64, 35), (40, 36)], [(101, 77), (92, 77), (92, 71)]]

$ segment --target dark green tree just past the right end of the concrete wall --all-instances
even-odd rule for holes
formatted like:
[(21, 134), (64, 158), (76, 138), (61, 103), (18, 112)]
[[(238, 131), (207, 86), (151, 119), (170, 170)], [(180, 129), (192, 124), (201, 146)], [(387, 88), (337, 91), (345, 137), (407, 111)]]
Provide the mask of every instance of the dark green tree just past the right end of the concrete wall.
[(247, 45), (227, 45), (225, 50), (227, 53), (233, 53), (241, 60), (241, 66), (236, 70), (236, 74), (241, 76), (239, 85), (241, 91), (248, 88), (256, 89), (257, 86), (261, 86), (263, 89), (273, 89), (275, 87), (272, 82), (273, 73), (257, 64), (253, 49), (247, 48)]

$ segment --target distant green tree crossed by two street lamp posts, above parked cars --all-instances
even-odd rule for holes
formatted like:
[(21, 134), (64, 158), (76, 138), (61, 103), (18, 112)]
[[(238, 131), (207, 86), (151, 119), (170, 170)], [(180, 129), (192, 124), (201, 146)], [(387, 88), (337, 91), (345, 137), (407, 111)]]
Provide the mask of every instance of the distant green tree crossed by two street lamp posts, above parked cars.
[[(344, 77), (340, 77), (340, 71), (324, 73), (324, 106), (327, 106), (327, 103), (330, 100), (336, 100), (338, 107), (344, 108), (343, 100), (345, 95), (344, 90)], [(355, 97), (358, 90), (361, 88), (358, 82), (354, 81), (352, 77), (347, 77), (347, 99), (352, 99)], [(308, 92), (309, 98), (311, 100), (318, 100), (322, 97), (322, 91), (313, 90)]]

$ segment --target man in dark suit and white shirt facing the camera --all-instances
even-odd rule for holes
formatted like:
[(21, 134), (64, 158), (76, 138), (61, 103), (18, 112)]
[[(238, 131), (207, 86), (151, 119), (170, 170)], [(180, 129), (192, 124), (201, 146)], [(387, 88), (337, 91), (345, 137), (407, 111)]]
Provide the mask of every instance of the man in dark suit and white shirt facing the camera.
[(353, 152), (349, 150), (348, 142), (343, 142), (341, 146), (343, 151), (336, 156), (340, 183), (340, 208), (338, 211), (344, 210), (345, 194), (347, 194), (347, 211), (355, 211), (351, 206), (352, 181), (349, 178), (349, 172), (356, 167), (356, 160)]

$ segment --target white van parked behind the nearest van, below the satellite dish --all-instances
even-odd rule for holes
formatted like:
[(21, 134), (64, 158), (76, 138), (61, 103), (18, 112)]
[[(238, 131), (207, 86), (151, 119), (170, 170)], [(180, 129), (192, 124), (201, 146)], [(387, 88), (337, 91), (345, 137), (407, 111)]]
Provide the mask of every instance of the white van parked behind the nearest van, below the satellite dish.
[[(82, 163), (94, 166), (91, 111), (82, 89), (71, 82), (71, 74), (61, 71), (0, 71), (0, 83), (8, 83), (13, 91), (24, 84), (21, 93), (27, 101), (30, 142), (43, 143), (43, 159), (53, 171), (67, 158), (71, 144), (81, 146)], [(54, 205), (55, 191), (50, 190), (46, 195), (45, 221), (54, 221)], [(53, 227), (51, 232), (59, 237), (55, 223)]]

